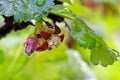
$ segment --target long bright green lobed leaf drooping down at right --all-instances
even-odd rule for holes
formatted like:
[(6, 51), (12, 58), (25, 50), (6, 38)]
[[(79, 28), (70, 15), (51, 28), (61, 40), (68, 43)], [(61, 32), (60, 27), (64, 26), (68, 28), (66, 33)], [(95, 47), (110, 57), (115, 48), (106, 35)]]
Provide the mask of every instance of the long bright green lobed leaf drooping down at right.
[(81, 47), (91, 51), (90, 59), (95, 65), (111, 65), (117, 60), (119, 53), (109, 48), (103, 39), (91, 30), (81, 19), (76, 18), (72, 23), (72, 37)]

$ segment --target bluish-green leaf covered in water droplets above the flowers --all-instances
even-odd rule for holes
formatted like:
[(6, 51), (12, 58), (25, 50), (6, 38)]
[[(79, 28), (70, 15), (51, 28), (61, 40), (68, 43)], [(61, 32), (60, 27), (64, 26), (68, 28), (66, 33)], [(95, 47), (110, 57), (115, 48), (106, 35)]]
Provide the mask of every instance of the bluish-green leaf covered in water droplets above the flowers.
[[(0, 0), (0, 15), (14, 16), (16, 21), (29, 21), (47, 16), (53, 0)], [(39, 16), (39, 18), (36, 18)]]

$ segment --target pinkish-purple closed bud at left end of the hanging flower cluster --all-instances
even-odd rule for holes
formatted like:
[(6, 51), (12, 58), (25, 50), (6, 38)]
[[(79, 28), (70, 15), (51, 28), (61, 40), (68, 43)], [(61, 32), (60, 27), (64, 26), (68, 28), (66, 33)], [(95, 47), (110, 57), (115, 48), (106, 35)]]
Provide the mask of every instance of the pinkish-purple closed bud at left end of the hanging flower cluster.
[(25, 43), (25, 53), (30, 56), (37, 48), (37, 38), (28, 37)]

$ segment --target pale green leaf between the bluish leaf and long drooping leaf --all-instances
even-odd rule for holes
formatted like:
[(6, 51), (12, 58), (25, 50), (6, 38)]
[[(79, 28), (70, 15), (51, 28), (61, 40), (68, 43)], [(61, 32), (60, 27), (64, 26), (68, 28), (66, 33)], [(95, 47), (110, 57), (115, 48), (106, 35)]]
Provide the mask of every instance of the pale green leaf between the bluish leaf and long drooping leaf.
[(68, 19), (71, 19), (71, 20), (73, 20), (74, 17), (76, 16), (76, 15), (73, 14), (73, 12), (71, 10), (69, 10), (68, 8), (66, 8), (63, 5), (54, 5), (49, 10), (49, 13), (59, 15), (59, 16), (62, 16), (64, 18), (68, 18)]

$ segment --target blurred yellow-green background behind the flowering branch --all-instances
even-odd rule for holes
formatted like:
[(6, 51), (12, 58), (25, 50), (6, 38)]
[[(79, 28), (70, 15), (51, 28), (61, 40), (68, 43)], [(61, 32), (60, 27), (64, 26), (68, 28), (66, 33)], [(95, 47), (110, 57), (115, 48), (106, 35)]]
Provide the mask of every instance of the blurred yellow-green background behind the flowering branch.
[[(72, 5), (66, 6), (102, 36), (108, 46), (120, 51), (119, 0), (72, 0)], [(24, 42), (33, 29), (29, 26), (12, 31), (0, 40), (0, 80), (120, 80), (120, 61), (107, 67), (92, 65), (89, 50), (78, 45), (70, 50), (66, 40), (58, 48), (28, 57), (24, 54)]]

